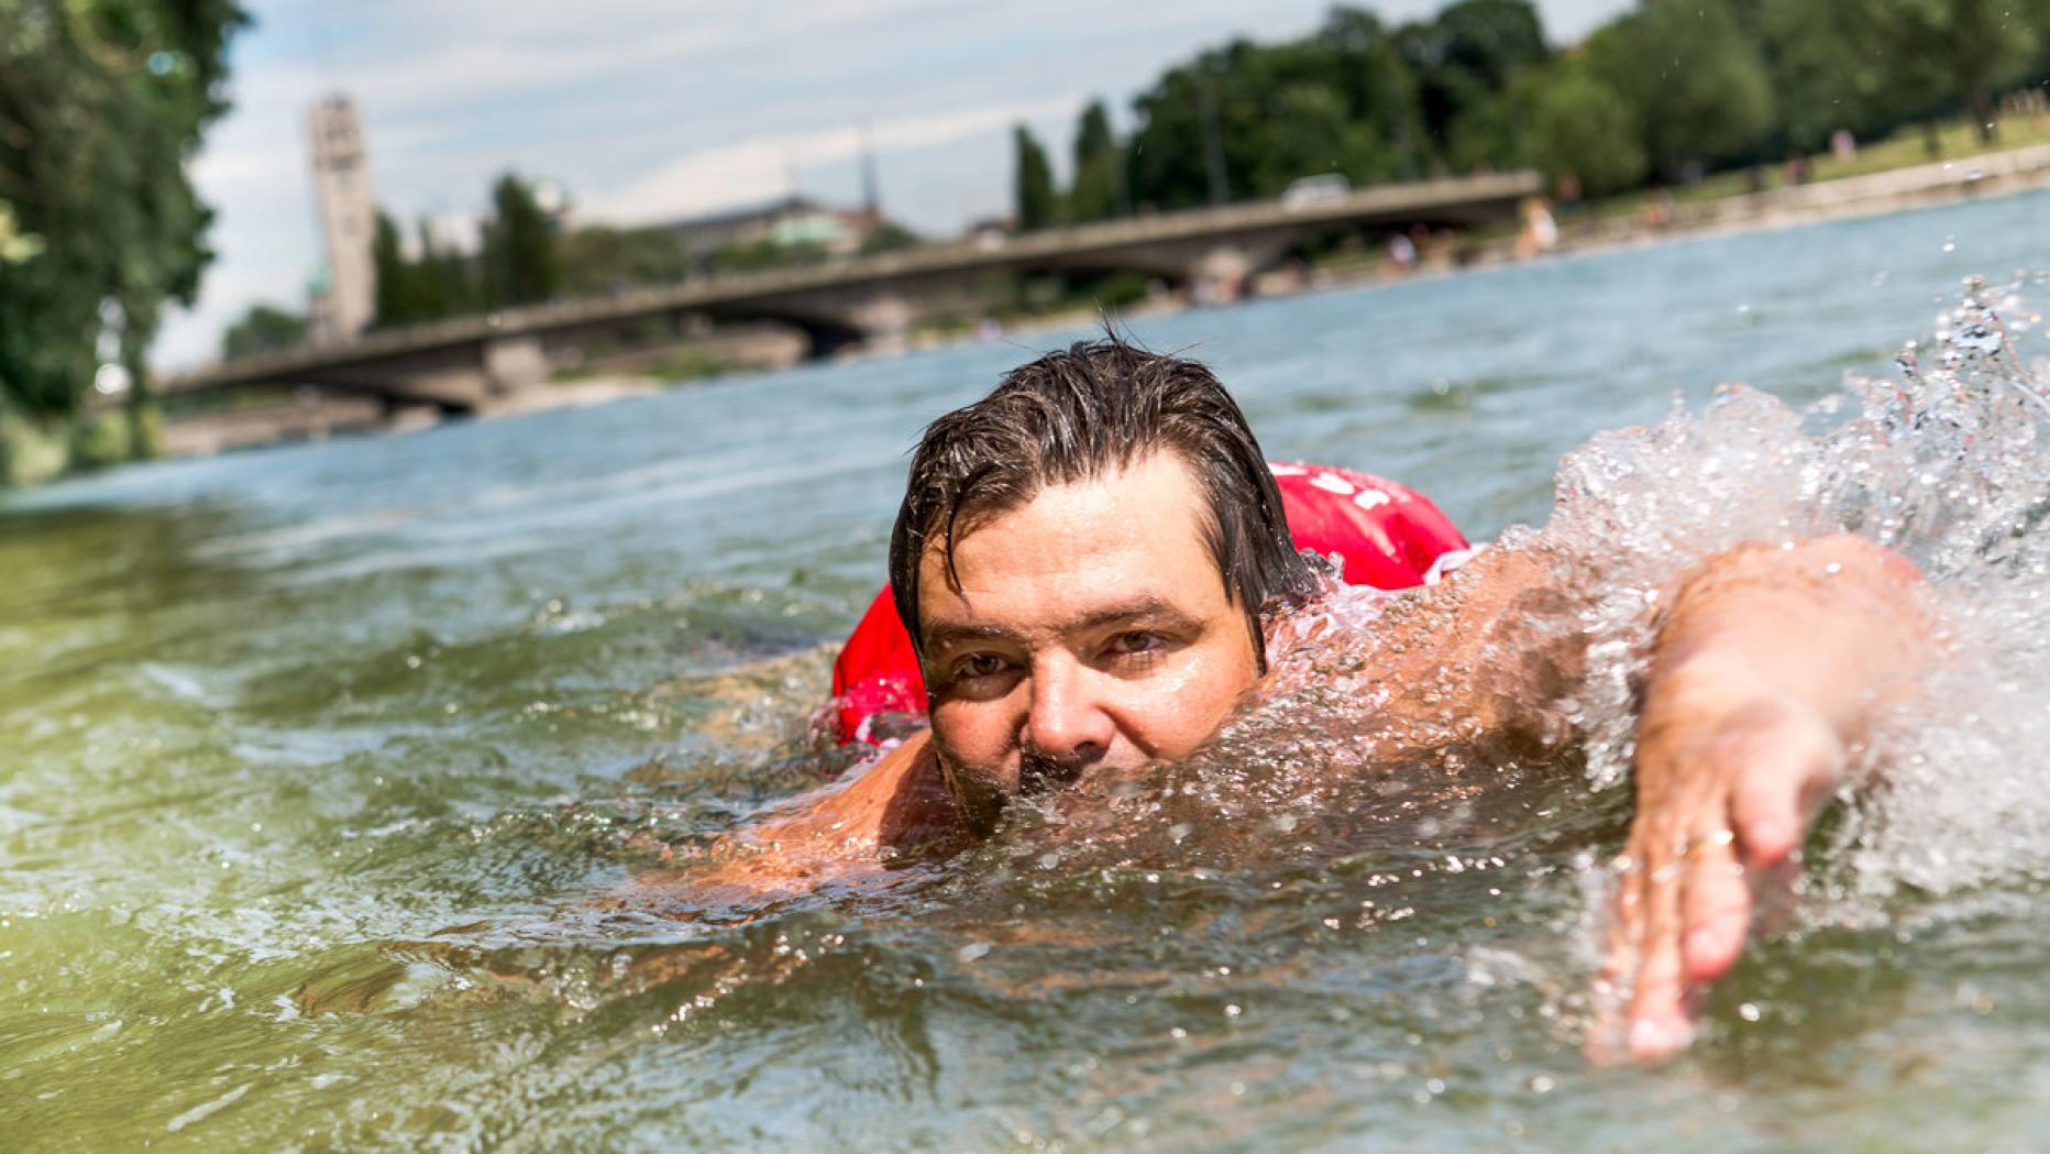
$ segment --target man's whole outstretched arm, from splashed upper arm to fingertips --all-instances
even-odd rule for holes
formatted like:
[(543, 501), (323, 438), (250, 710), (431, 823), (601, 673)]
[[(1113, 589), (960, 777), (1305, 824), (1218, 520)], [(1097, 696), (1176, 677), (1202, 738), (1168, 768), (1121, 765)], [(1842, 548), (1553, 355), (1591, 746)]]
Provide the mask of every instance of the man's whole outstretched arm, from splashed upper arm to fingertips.
[[(1386, 709), (1429, 730), (1441, 715), (1431, 703), (1451, 691), (1464, 695), (1464, 732), (1449, 740), (1564, 738), (1548, 732), (1546, 707), (1581, 676), (1583, 640), (1527, 623), (1556, 613), (1558, 580), (1542, 547), (1490, 549), (1398, 603), (1378, 623)], [(1841, 783), (1845, 750), (1933, 664), (1917, 586), (1902, 558), (1837, 535), (1740, 545), (1669, 590), (1638, 715), (1597, 1056), (1660, 1058), (1687, 1043), (1695, 994), (1734, 965), (1759, 892), (1792, 881), (1792, 853)]]

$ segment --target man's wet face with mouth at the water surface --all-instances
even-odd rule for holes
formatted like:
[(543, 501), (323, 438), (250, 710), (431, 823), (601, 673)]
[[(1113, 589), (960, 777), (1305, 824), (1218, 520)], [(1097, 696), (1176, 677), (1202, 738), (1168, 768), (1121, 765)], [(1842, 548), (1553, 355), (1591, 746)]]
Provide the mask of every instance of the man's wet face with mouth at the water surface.
[(1253, 689), (1246, 615), (1175, 453), (966, 525), (918, 572), (933, 738), (978, 824), (1097, 767), (1195, 752)]

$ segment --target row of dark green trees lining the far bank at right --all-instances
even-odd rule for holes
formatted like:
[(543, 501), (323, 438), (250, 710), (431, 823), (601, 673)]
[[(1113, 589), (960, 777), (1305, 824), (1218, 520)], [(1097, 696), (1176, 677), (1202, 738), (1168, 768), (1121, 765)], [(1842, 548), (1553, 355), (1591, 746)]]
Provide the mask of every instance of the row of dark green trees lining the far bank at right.
[[(1933, 115), (1993, 121), (2050, 80), (2050, 0), (1642, 0), (1564, 57), (1529, 0), (1462, 0), (1400, 27), (1337, 6), (1310, 35), (1232, 41), (1132, 102), (1138, 207), (1535, 166), (1591, 193), (1886, 135)], [(1091, 154), (1097, 121), (1082, 125)], [(1093, 219), (1080, 174), (1070, 205)]]

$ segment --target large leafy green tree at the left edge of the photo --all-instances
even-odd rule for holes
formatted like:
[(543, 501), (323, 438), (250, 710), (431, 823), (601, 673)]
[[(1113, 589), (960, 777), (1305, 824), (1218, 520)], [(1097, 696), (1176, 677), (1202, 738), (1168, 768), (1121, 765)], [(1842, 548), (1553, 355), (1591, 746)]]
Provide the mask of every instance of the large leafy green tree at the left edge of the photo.
[(144, 449), (144, 353), (211, 258), (184, 164), (244, 23), (234, 0), (0, 0), (0, 408), (76, 412), (107, 348)]

